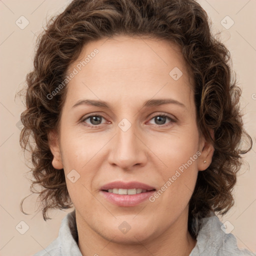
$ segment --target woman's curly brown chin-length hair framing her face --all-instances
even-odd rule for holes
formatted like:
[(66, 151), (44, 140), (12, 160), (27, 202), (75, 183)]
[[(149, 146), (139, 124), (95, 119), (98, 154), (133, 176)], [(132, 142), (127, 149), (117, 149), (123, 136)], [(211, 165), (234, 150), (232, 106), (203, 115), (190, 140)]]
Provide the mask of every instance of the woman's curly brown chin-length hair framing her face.
[[(30, 191), (39, 194), (44, 220), (49, 219), (49, 209), (72, 206), (64, 171), (51, 164), (47, 137), (49, 131), (58, 129), (67, 86), (51, 100), (48, 95), (65, 79), (84, 44), (115, 35), (170, 40), (186, 60), (194, 81), (198, 129), (214, 146), (212, 162), (198, 172), (189, 201), (188, 230), (196, 237), (198, 220), (212, 211), (223, 215), (233, 205), (240, 154), (251, 149), (252, 140), (243, 129), (241, 89), (231, 73), (230, 53), (212, 35), (206, 12), (194, 0), (73, 0), (61, 14), (50, 18), (37, 38), (33, 70), (26, 75), (26, 109), (21, 113), (20, 145), (24, 150), (29, 146), (33, 164)], [(243, 138), (249, 140), (247, 149), (241, 148)], [(40, 191), (32, 190), (35, 184)], [(20, 207), (25, 213), (23, 200)]]

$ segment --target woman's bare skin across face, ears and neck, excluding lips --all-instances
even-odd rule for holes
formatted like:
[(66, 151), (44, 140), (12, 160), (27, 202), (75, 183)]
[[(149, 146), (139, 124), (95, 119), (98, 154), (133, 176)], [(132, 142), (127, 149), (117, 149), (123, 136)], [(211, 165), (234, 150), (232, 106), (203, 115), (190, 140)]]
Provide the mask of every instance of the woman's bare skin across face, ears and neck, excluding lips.
[[(182, 54), (165, 40), (116, 36), (86, 44), (68, 72), (94, 48), (99, 52), (67, 85), (59, 131), (49, 134), (52, 165), (64, 168), (65, 176), (72, 169), (80, 175), (74, 183), (66, 177), (66, 185), (81, 253), (189, 255), (196, 240), (187, 230), (188, 202), (197, 173), (209, 166), (214, 149), (198, 131), (192, 79)], [(174, 67), (183, 73), (176, 81), (169, 75)], [(152, 98), (172, 98), (184, 106), (142, 107)], [(110, 109), (72, 107), (82, 99), (104, 100)], [(101, 115), (101, 122), (85, 118), (90, 114)], [(157, 121), (161, 114), (175, 121)], [(125, 132), (118, 126), (123, 118), (131, 124)], [(200, 156), (154, 202), (117, 206), (99, 192), (116, 180), (158, 190), (197, 151)], [(123, 221), (131, 227), (125, 234), (118, 228)]]

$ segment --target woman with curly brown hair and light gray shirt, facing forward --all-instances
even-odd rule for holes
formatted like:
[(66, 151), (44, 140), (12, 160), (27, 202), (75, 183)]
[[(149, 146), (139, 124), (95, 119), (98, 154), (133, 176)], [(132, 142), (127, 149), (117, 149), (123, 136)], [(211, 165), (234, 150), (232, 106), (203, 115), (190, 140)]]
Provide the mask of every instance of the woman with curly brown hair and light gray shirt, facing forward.
[(198, 3), (74, 0), (37, 46), (20, 142), (44, 220), (75, 210), (35, 255), (253, 255), (215, 215), (252, 142)]

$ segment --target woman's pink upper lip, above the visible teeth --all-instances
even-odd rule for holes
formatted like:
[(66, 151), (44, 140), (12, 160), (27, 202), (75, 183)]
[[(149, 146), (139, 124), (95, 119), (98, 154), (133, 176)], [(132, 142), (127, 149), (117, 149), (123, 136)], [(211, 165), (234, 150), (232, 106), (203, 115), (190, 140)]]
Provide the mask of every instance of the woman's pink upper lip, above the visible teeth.
[(100, 190), (108, 190), (109, 188), (142, 188), (146, 190), (152, 190), (155, 189), (154, 187), (138, 182), (138, 181), (130, 181), (130, 182), (123, 182), (123, 181), (113, 181), (110, 183), (107, 183), (100, 187)]

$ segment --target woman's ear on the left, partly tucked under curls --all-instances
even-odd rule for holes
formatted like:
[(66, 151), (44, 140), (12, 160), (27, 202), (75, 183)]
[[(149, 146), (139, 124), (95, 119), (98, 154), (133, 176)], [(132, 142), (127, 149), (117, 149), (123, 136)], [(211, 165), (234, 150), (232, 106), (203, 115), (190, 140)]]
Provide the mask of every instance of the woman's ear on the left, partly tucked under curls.
[(62, 169), (63, 164), (62, 164), (62, 160), (61, 160), (60, 146), (59, 146), (59, 142), (58, 142), (58, 134), (56, 131), (50, 131), (48, 133), (48, 143), (49, 143), (50, 151), (53, 155), (52, 166), (55, 169)]

